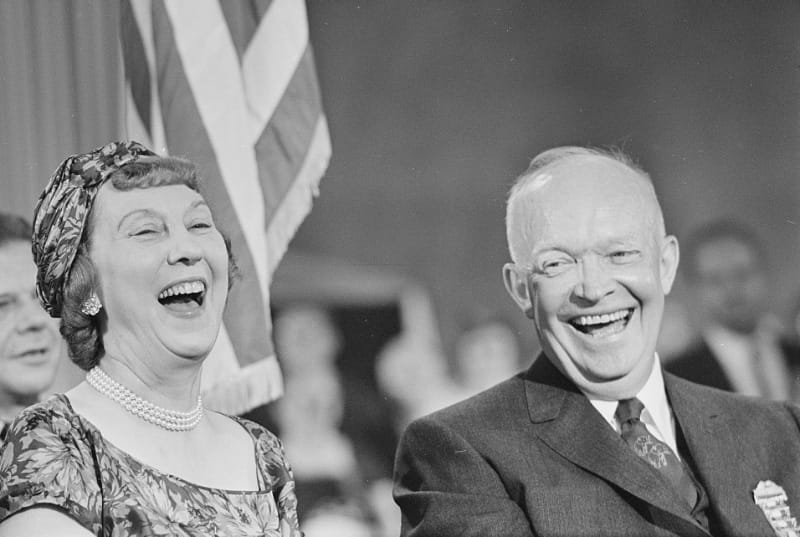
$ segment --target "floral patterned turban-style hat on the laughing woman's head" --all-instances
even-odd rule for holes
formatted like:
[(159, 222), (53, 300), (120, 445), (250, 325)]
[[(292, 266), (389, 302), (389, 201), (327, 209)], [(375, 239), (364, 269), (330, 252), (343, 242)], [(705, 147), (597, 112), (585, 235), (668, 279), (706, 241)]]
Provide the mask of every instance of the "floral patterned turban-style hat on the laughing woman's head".
[(51, 317), (61, 316), (64, 282), (78, 252), (97, 191), (125, 164), (155, 153), (138, 142), (111, 142), (72, 155), (50, 177), (33, 210), (36, 294)]

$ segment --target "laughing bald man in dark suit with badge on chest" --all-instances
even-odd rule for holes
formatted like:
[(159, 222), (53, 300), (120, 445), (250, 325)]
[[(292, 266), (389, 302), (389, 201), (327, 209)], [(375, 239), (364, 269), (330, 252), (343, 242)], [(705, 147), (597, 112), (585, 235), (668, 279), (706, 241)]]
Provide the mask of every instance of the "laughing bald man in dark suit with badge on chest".
[(402, 535), (793, 535), (800, 409), (663, 373), (678, 266), (647, 174), (619, 153), (534, 158), (507, 209), (503, 269), (543, 353), (406, 429)]

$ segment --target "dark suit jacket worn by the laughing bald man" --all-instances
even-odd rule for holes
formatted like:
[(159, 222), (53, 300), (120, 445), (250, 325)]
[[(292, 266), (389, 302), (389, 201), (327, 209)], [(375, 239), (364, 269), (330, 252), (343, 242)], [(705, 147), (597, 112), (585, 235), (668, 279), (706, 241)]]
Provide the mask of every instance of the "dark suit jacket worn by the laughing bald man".
[[(664, 383), (713, 535), (774, 535), (753, 501), (762, 480), (800, 515), (800, 408), (670, 374)], [(394, 479), (406, 537), (708, 535), (543, 357), (409, 425)]]

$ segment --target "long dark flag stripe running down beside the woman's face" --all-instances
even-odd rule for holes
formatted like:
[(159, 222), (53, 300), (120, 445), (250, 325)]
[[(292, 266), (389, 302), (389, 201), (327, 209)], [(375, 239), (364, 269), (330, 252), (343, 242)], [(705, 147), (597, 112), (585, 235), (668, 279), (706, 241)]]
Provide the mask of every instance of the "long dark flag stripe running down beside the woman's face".
[[(153, 5), (153, 25), (154, 35), (158, 37), (156, 63), (162, 74), (161, 100), (167, 145), (172, 154), (184, 155), (197, 163), (205, 177), (218, 178), (221, 170), (213, 144), (184, 72), (182, 58), (176, 53), (173, 24), (166, 12), (160, 12), (163, 6), (159, 4)], [(241, 280), (235, 283), (228, 296), (223, 320), (239, 363), (252, 363), (272, 353), (265, 307), (252, 307), (256, 300), (257, 304), (267, 304), (266, 296), (261, 292), (257, 269), (225, 184), (220, 180), (206, 180), (205, 192), (220, 228), (229, 235), (241, 271)]]

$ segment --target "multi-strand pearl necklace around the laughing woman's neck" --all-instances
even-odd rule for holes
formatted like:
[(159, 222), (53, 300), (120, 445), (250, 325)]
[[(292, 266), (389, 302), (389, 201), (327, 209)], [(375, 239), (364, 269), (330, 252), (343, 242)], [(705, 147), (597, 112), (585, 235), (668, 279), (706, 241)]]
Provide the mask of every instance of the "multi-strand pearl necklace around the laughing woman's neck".
[(189, 412), (169, 410), (139, 397), (128, 388), (108, 376), (108, 373), (93, 367), (86, 374), (88, 382), (95, 390), (119, 403), (122, 408), (141, 419), (158, 425), (168, 431), (189, 431), (197, 427), (203, 418), (203, 398), (197, 396), (197, 405)]

